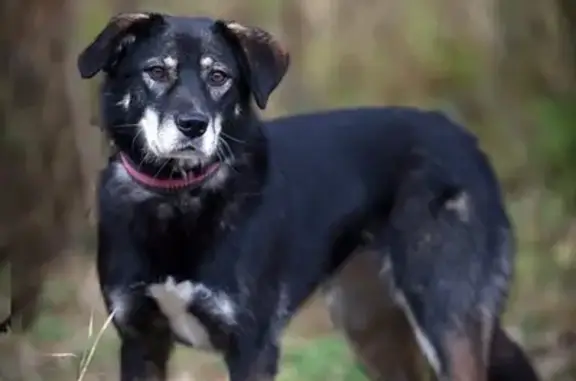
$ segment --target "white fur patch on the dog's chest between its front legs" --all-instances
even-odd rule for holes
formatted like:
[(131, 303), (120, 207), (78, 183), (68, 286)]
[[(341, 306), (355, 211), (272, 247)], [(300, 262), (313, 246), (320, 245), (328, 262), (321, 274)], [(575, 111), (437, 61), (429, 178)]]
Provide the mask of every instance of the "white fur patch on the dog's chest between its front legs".
[(150, 285), (148, 292), (168, 318), (174, 333), (195, 348), (213, 350), (206, 327), (188, 311), (193, 302), (201, 303), (216, 320), (229, 325), (236, 323), (236, 307), (228, 295), (213, 291), (201, 283), (176, 283), (174, 278), (168, 277), (164, 283)]

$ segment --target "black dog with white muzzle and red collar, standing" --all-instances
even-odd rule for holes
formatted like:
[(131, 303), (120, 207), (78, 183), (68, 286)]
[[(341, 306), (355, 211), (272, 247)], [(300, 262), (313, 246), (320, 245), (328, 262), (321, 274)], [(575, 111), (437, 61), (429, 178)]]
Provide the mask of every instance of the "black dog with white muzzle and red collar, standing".
[(251, 102), (266, 107), (288, 55), (234, 22), (122, 14), (78, 65), (106, 73), (118, 151), (101, 178), (98, 269), (122, 380), (165, 379), (175, 341), (220, 352), (232, 381), (273, 379), (290, 317), (358, 251), (440, 379), (487, 379), (512, 234), (464, 129), (408, 108), (262, 124)]

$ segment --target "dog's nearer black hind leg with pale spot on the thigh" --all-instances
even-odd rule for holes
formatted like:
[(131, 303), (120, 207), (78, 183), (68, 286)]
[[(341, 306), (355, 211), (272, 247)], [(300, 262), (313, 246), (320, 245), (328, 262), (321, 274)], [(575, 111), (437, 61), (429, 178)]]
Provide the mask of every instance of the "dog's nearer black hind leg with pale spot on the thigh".
[(401, 189), (389, 225), (374, 242), (388, 253), (382, 272), (389, 273), (394, 298), (438, 379), (486, 381), (510, 279), (508, 221), (494, 200), (480, 207), (480, 197), (464, 190), (439, 193), (438, 184), (426, 188), (422, 174)]

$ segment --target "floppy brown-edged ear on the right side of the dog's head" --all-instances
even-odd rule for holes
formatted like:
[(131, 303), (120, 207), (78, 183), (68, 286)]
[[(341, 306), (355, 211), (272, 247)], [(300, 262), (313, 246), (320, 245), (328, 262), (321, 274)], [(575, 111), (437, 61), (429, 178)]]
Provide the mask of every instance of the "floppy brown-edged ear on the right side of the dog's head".
[(270, 33), (260, 28), (224, 20), (216, 21), (216, 27), (240, 48), (241, 66), (254, 100), (260, 109), (265, 109), (270, 94), (288, 70), (288, 52)]

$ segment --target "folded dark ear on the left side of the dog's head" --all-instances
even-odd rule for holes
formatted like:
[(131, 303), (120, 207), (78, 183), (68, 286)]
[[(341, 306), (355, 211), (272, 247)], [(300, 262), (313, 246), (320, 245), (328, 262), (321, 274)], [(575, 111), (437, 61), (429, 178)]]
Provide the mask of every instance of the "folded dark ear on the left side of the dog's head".
[(157, 13), (120, 13), (110, 19), (108, 25), (78, 56), (78, 71), (82, 78), (92, 78), (113, 61), (119, 51), (136, 36), (137, 27), (151, 25), (162, 19)]

